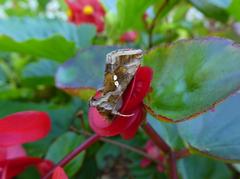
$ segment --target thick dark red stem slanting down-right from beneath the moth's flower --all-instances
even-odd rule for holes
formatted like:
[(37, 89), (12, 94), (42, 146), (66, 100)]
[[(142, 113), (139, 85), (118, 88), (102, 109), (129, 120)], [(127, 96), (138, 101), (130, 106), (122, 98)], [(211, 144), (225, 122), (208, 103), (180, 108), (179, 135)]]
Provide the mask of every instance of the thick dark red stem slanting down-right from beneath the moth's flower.
[(166, 154), (171, 153), (171, 148), (169, 145), (155, 132), (155, 130), (146, 123), (143, 126), (144, 131), (150, 136), (152, 141)]

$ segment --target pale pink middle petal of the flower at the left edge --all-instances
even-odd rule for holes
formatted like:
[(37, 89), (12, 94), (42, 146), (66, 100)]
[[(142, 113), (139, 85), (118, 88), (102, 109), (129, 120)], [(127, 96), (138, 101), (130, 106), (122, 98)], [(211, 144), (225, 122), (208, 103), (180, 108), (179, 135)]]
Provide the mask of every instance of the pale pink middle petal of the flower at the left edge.
[(25, 156), (26, 152), (21, 145), (14, 145), (11, 147), (0, 147), (0, 161)]

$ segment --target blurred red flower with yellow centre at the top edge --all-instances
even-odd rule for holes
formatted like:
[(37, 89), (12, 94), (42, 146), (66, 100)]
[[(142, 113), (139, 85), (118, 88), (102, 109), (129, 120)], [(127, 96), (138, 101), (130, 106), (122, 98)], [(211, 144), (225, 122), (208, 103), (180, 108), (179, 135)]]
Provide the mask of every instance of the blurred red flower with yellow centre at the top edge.
[(98, 32), (104, 30), (105, 10), (99, 0), (66, 0), (69, 6), (69, 21), (74, 24), (90, 23)]

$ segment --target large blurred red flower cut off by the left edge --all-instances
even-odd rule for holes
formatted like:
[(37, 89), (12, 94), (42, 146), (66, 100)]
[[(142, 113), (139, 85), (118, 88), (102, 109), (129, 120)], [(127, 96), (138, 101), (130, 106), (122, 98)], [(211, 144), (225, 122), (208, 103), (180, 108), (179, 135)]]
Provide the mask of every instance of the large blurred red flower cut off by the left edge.
[(32, 165), (37, 167), (40, 174), (45, 174), (53, 166), (48, 160), (26, 156), (24, 148), (20, 145), (45, 137), (50, 129), (50, 119), (43, 112), (19, 112), (0, 120), (2, 178), (12, 178)]

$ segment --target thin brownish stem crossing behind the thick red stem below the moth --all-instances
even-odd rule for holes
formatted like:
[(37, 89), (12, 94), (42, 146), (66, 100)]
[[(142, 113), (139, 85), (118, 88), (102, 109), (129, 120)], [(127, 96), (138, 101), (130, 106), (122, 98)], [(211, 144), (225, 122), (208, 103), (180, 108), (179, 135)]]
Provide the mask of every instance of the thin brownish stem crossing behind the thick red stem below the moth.
[[(83, 134), (85, 136), (90, 136), (92, 135), (91, 133), (87, 132), (87, 131), (79, 131), (78, 129), (74, 128), (74, 127), (71, 127), (70, 128), (71, 131), (73, 132), (76, 132), (78, 134)], [(132, 146), (129, 146), (129, 145), (126, 145), (124, 143), (121, 143), (121, 142), (117, 142), (115, 140), (111, 140), (111, 139), (108, 139), (108, 138), (105, 138), (105, 137), (101, 137), (99, 139), (100, 141), (103, 141), (103, 142), (106, 142), (106, 143), (109, 143), (109, 144), (112, 144), (112, 145), (116, 145), (118, 147), (121, 147), (122, 149), (126, 149), (126, 150), (129, 150), (131, 152), (134, 152), (134, 153), (137, 153), (149, 160), (152, 160), (153, 162), (157, 163), (157, 164), (161, 164), (160, 161), (154, 159), (151, 155), (148, 155), (146, 152), (144, 152), (143, 150), (141, 149), (138, 149), (136, 147), (132, 147)]]

